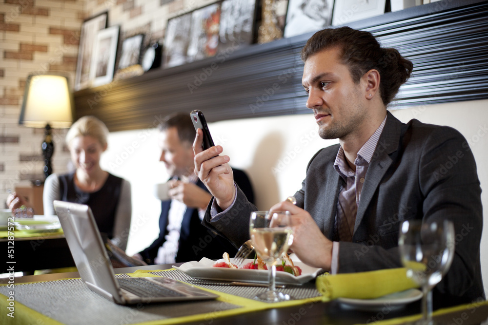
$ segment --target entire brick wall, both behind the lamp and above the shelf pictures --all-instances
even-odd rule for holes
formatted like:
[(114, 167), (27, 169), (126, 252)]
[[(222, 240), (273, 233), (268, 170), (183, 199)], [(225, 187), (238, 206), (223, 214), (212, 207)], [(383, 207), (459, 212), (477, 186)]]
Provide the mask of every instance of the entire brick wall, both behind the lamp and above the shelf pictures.
[[(168, 18), (216, 0), (0, 0), (0, 204), (7, 189), (41, 179), (42, 129), (18, 125), (25, 80), (30, 73), (76, 71), (83, 19), (108, 11), (121, 39), (145, 34), (162, 41)], [(76, 108), (75, 108), (76, 109)], [(69, 170), (66, 130), (53, 131), (53, 170)], [(117, 145), (117, 144), (115, 144)]]

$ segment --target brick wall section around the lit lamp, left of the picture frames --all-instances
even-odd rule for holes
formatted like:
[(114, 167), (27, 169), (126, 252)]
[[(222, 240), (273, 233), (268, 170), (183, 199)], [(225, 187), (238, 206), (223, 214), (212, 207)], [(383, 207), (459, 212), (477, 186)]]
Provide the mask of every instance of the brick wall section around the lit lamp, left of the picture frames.
[[(43, 129), (18, 125), (25, 80), (31, 73), (67, 72), (74, 79), (82, 0), (0, 2), (0, 204), (7, 189), (42, 179)], [(71, 82), (72, 82), (71, 80)], [(54, 130), (55, 172), (68, 170), (66, 130)]]

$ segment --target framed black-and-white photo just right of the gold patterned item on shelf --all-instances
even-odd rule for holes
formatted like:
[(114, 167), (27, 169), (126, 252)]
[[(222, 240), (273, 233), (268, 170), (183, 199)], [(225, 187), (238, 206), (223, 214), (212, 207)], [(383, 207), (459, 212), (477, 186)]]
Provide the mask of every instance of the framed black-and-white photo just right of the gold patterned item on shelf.
[(289, 0), (285, 38), (316, 32), (330, 26), (333, 7), (334, 0)]

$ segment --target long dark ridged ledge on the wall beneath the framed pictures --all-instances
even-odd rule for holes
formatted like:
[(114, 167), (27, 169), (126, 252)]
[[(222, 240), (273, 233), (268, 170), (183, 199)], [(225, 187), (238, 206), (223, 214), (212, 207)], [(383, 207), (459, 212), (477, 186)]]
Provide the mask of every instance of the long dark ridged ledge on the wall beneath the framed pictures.
[[(488, 98), (487, 17), (487, 0), (451, 0), (347, 25), (413, 61), (413, 77), (390, 104), (403, 108)], [(152, 128), (165, 115), (194, 109), (209, 122), (308, 113), (299, 53), (312, 34), (78, 91), (76, 115), (95, 115), (110, 131), (122, 131)]]

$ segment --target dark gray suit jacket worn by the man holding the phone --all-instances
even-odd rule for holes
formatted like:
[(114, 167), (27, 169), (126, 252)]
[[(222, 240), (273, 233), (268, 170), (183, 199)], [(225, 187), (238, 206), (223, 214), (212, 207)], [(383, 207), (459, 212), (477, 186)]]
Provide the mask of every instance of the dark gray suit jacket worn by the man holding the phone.
[[(335, 227), (337, 198), (344, 184), (334, 170), (339, 145), (320, 150), (310, 160), (297, 206), (310, 213), (325, 236), (339, 241)], [(234, 206), (205, 225), (222, 229), (236, 245), (249, 238), (249, 212), (256, 207), (238, 193)], [(231, 220), (233, 227), (224, 227)], [(339, 243), (339, 272), (402, 267), (399, 225), (407, 219), (454, 223), (453, 263), (434, 290), (434, 305), (449, 306), (485, 298), (481, 279), (483, 229), (481, 188), (466, 139), (456, 130), (418, 120), (401, 123), (388, 112), (383, 133), (366, 172), (353, 241)], [(438, 294), (442, 293), (442, 297)]]

